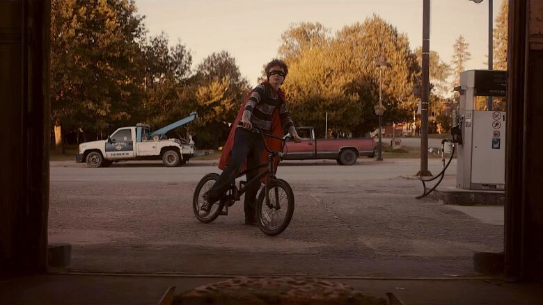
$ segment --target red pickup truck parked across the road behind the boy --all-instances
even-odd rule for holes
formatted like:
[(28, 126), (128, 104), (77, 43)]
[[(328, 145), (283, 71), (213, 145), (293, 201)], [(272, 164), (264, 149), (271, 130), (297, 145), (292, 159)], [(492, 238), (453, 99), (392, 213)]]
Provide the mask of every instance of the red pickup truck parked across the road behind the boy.
[(358, 156), (375, 156), (372, 138), (315, 139), (313, 127), (297, 128), (300, 143), (286, 142), (285, 160), (336, 159), (340, 165), (353, 165)]

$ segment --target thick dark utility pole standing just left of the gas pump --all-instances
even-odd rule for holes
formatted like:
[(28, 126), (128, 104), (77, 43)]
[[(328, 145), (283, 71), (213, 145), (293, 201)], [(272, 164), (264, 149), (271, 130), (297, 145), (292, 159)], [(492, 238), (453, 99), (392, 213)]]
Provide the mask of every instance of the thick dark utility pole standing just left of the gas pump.
[(430, 0), (423, 0), (423, 84), (420, 102), (420, 171), (417, 176), (432, 176), (428, 170), (428, 101), (430, 96)]

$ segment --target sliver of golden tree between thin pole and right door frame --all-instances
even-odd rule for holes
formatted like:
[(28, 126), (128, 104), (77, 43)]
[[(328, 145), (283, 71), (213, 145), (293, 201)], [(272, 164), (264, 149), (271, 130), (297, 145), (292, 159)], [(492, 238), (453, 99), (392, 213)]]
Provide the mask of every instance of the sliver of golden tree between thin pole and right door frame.
[(494, 28), (494, 69), (507, 69), (507, 29), (509, 15), (509, 1), (503, 0), (500, 13), (496, 17), (496, 28)]

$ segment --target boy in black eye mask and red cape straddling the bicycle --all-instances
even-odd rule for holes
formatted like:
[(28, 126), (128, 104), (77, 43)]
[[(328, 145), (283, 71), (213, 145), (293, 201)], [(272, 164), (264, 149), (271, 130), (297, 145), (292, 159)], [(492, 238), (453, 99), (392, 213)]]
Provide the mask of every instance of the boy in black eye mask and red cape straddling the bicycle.
[[(253, 127), (279, 137), (283, 135), (283, 130), (288, 130), (294, 142), (301, 142), (288, 113), (285, 93), (280, 88), (288, 74), (287, 64), (283, 60), (274, 59), (266, 65), (265, 72), (267, 81), (251, 91), (239, 110), (219, 163), (223, 172), (212, 188), (203, 195), (205, 201), (200, 208), (200, 216), (205, 217), (210, 213), (212, 204), (234, 183), (245, 161), (246, 168), (267, 162), (266, 158), (262, 160), (262, 156), (265, 156), (262, 154), (262, 135), (253, 132)], [(247, 173), (246, 179), (251, 181), (257, 175), (258, 169), (252, 170)], [(254, 206), (258, 189), (258, 183), (254, 183), (245, 192), (245, 224), (256, 222)]]

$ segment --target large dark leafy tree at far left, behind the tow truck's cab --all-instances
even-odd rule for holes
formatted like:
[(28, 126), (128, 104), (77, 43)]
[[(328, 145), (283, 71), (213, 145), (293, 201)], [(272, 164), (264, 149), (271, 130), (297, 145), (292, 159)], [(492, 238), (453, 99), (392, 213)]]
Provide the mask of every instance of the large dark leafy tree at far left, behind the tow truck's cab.
[(56, 147), (62, 127), (100, 131), (123, 122), (141, 98), (137, 66), (143, 17), (134, 1), (54, 0), (51, 100)]

